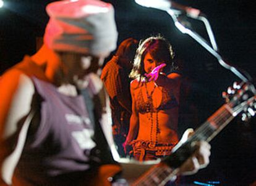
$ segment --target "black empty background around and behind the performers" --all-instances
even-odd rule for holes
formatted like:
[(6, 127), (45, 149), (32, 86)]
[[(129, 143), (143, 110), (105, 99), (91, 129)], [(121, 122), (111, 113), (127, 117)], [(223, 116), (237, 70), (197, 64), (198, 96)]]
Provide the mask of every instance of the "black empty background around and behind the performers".
[[(35, 53), (36, 38), (43, 36), (48, 21), (45, 6), (49, 2), (53, 1), (10, 0), (0, 9), (0, 73), (22, 60), (23, 55)], [(197, 127), (224, 103), (221, 92), (239, 79), (221, 67), (192, 38), (180, 33), (165, 12), (140, 7), (129, 0), (106, 2), (111, 2), (116, 9), (119, 43), (129, 37), (143, 39), (161, 33), (173, 45), (184, 75), (180, 132), (190, 126)], [(220, 54), (227, 62), (247, 71), (255, 82), (254, 1), (175, 2), (202, 10), (211, 23)], [(193, 21), (192, 28), (207, 39), (202, 23)], [(255, 134), (255, 118), (246, 123), (239, 117), (234, 119), (211, 141), (208, 168), (187, 177), (184, 185), (195, 185), (194, 181), (217, 181), (211, 185), (249, 185), (255, 181)]]

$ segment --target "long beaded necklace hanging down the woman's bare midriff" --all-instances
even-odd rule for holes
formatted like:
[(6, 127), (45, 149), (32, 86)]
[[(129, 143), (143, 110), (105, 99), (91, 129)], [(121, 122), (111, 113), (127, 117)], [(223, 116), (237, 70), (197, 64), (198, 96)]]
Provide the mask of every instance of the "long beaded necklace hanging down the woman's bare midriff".
[[(158, 127), (158, 109), (154, 108), (154, 105), (153, 105), (153, 99), (152, 99), (152, 96), (153, 96), (153, 93), (156, 89), (156, 84), (155, 86), (153, 87), (153, 90), (150, 92), (150, 94), (148, 93), (148, 87), (147, 87), (147, 82), (145, 82), (145, 88), (146, 88), (146, 93), (147, 93), (147, 105), (146, 105), (146, 108), (147, 108), (147, 113), (149, 113), (149, 116), (148, 116), (148, 120), (150, 120), (150, 141), (152, 142), (150, 144), (151, 148), (154, 148), (156, 143), (157, 143), (157, 140), (158, 140), (158, 133), (160, 133), (160, 129)], [(155, 133), (155, 141), (153, 140), (153, 127), (154, 127), (154, 124), (153, 124), (153, 112), (156, 112), (156, 133)]]

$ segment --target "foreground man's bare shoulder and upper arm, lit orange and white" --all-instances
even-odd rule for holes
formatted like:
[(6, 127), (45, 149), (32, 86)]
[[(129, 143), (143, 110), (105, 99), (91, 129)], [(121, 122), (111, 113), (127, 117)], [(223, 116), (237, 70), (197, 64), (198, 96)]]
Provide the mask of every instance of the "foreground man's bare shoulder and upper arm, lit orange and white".
[(14, 134), (18, 121), (29, 113), (35, 87), (22, 71), (12, 69), (2, 75), (0, 89), (0, 123), (6, 126), (3, 136), (8, 137)]

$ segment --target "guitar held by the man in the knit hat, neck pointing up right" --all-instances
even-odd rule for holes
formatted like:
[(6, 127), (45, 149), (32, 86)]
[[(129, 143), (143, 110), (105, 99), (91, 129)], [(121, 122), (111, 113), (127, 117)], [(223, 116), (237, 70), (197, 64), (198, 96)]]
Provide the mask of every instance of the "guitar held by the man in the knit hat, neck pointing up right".
[[(215, 135), (217, 135), (232, 119), (239, 113), (243, 112), (242, 119), (250, 118), (255, 115), (256, 108), (256, 91), (252, 84), (234, 84), (234, 89), (228, 90), (228, 95), (225, 95), (226, 102), (220, 107), (210, 118), (205, 121), (195, 133), (187, 139), (184, 144), (177, 144), (171, 155), (159, 164), (151, 166), (151, 168), (142, 174), (132, 185), (150, 185), (158, 186), (165, 185), (169, 180), (175, 179), (179, 172), (179, 167), (195, 152), (194, 142), (198, 140), (205, 140), (210, 142)], [(103, 166), (100, 172), (103, 172), (100, 177), (101, 180), (109, 180), (109, 170), (111, 175), (121, 171), (118, 166)], [(111, 177), (110, 177), (111, 178)], [(98, 179), (98, 180), (99, 180)], [(106, 182), (101, 185), (109, 185)], [(96, 184), (97, 185), (97, 184)]]

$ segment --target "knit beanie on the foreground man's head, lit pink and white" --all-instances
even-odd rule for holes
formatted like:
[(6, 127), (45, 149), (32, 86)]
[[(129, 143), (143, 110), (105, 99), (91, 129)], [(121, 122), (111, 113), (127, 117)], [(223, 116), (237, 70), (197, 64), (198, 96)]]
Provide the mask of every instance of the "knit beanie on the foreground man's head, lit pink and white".
[(56, 1), (46, 7), (50, 19), (45, 44), (55, 51), (101, 55), (116, 49), (114, 9), (98, 0)]

